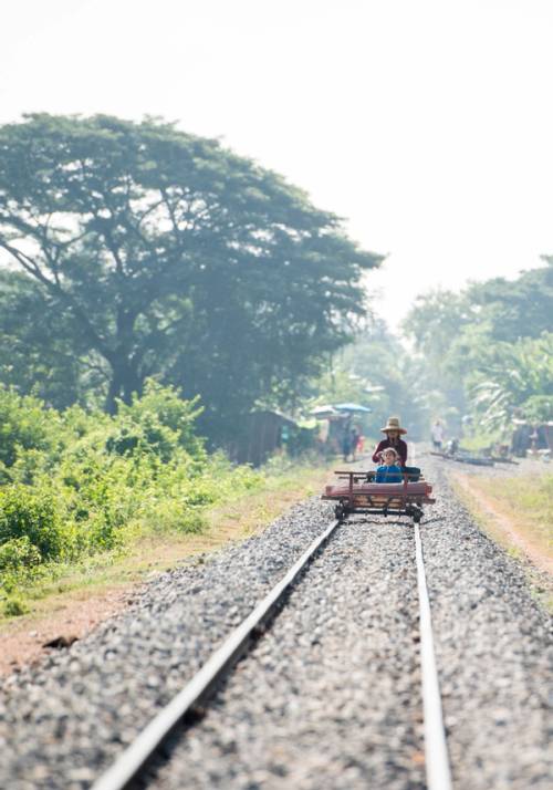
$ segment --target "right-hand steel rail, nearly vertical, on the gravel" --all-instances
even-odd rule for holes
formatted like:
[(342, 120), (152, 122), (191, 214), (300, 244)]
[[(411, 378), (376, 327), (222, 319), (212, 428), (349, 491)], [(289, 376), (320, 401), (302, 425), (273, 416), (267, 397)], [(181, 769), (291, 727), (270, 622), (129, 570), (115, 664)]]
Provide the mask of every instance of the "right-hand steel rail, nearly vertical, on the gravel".
[(428, 790), (451, 790), (451, 770), (441, 710), (440, 686), (434, 649), (430, 601), (426, 584), (422, 543), (415, 524), (415, 557), (420, 619), (420, 668), (422, 673), (422, 709), (425, 717), (425, 762)]

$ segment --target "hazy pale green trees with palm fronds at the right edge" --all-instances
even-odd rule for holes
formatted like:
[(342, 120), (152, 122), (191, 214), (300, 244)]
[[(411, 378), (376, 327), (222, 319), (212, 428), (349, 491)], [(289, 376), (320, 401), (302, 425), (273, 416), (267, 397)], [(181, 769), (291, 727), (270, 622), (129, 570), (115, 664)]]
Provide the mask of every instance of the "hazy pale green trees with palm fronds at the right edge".
[(491, 430), (505, 429), (514, 414), (553, 418), (553, 258), (543, 261), (512, 281), (420, 297), (404, 322), (425, 388)]

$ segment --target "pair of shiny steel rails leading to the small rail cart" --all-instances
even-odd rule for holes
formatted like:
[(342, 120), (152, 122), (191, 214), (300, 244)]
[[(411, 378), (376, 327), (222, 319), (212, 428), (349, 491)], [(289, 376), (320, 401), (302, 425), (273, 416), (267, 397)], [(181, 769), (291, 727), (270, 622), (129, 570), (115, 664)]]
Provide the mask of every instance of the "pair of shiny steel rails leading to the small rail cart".
[[(227, 678), (238, 661), (244, 656), (263, 633), (270, 621), (282, 609), (291, 589), (306, 568), (328, 544), (341, 522), (331, 523), (304, 551), (251, 614), (227, 637), (201, 669), (181, 692), (143, 729), (138, 737), (94, 783), (92, 790), (123, 790), (144, 777), (161, 745), (179, 725), (192, 725), (217, 687)], [(406, 528), (407, 524), (406, 524)], [(446, 732), (441, 711), (439, 680), (435, 661), (430, 604), (424, 568), (419, 526), (414, 524), (415, 562), (417, 569), (420, 671), (425, 732), (425, 767), (428, 790), (450, 790)]]

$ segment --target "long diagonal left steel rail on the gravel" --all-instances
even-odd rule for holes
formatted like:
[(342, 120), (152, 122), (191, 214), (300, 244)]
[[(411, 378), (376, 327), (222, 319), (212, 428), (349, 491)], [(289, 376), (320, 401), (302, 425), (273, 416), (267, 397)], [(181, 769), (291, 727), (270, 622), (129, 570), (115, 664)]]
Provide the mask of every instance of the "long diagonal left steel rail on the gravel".
[(331, 523), (303, 552), (283, 579), (265, 595), (248, 617), (227, 637), (223, 644), (211, 654), (206, 664), (186, 684), (171, 701), (146, 725), (137, 738), (125, 749), (100, 779), (92, 790), (123, 790), (153, 757), (156, 749), (187, 714), (206, 700), (215, 686), (247, 652), (260, 628), (275, 612), (289, 588), (296, 581), (307, 563), (325, 543), (340, 521)]

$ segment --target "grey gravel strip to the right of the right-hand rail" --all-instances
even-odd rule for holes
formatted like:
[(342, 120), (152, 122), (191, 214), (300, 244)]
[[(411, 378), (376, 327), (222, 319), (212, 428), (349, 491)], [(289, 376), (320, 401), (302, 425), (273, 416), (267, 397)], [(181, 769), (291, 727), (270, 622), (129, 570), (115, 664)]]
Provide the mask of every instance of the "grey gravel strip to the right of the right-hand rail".
[(444, 465), (429, 466), (440, 528), (424, 533), (425, 560), (453, 787), (545, 788), (553, 767), (551, 616), (524, 565), (456, 499)]

